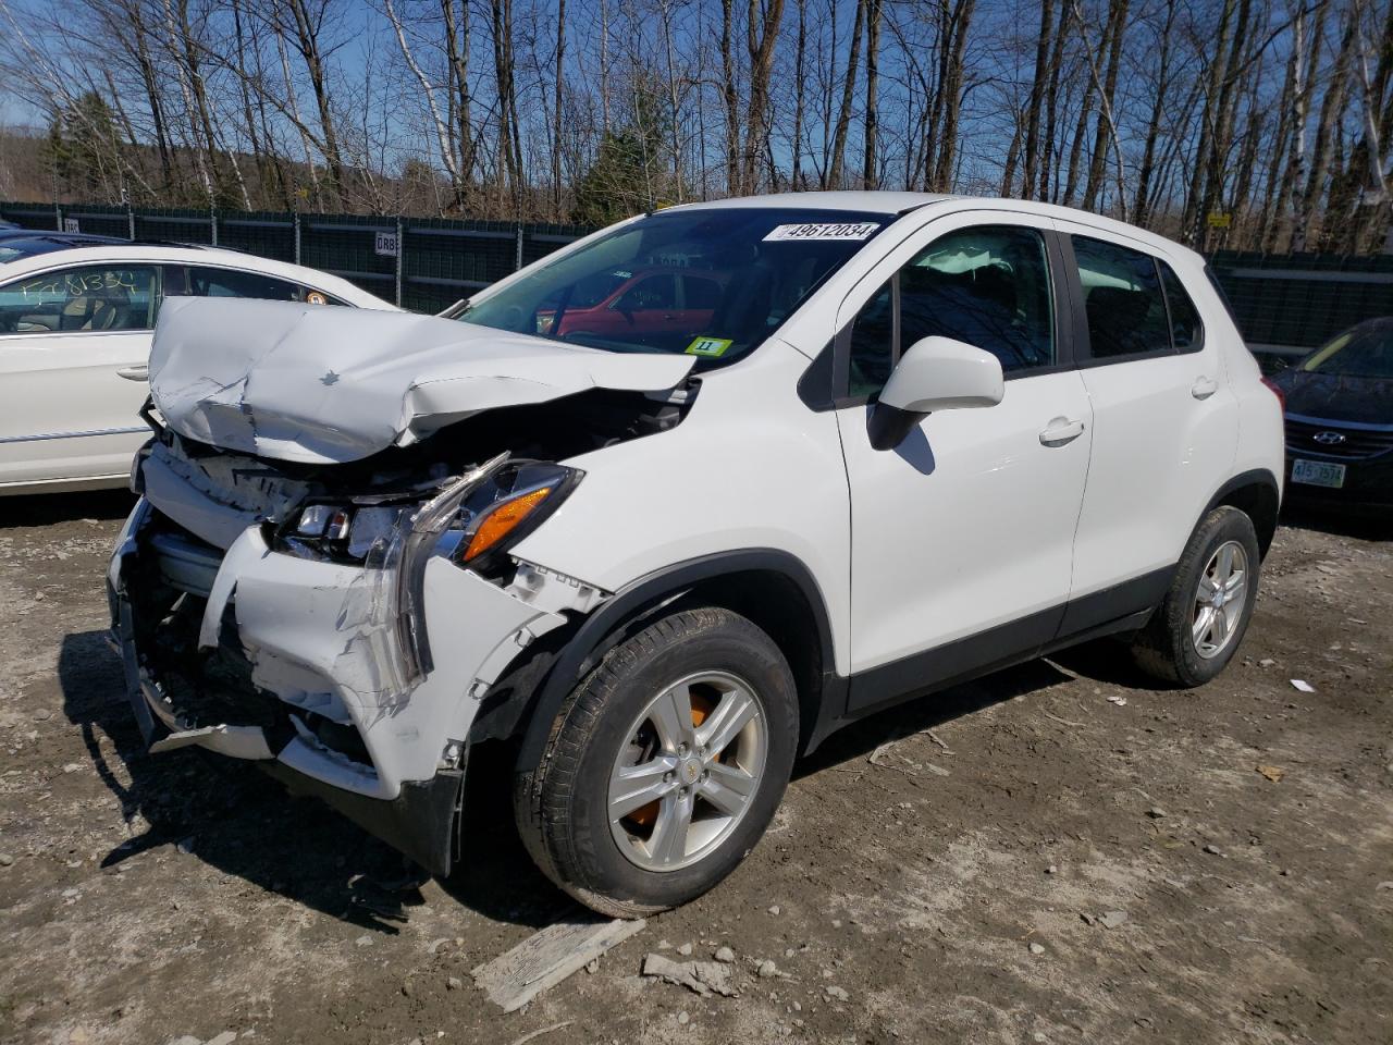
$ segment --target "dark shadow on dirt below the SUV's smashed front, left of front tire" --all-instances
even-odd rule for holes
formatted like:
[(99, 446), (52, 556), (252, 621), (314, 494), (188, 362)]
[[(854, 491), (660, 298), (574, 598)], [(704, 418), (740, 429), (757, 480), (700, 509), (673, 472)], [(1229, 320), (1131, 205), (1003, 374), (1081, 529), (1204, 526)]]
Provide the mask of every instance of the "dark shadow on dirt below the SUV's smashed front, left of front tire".
[[(68, 634), (59, 653), (63, 711), (81, 730), (128, 823), (145, 830), (102, 860), (113, 867), (162, 846), (226, 875), (365, 929), (394, 935), (425, 903), (428, 876), (394, 849), (315, 798), (294, 798), (254, 765), (198, 748), (145, 752), (104, 633)], [(116, 747), (99, 743), (109, 737)], [(123, 772), (124, 768), (124, 772)], [(128, 780), (128, 782), (127, 782)], [(506, 791), (504, 791), (506, 794)], [(495, 921), (540, 927), (564, 907), (511, 828), (511, 803), (469, 803), (458, 871), (440, 882)], [(506, 818), (475, 807), (503, 807)]]

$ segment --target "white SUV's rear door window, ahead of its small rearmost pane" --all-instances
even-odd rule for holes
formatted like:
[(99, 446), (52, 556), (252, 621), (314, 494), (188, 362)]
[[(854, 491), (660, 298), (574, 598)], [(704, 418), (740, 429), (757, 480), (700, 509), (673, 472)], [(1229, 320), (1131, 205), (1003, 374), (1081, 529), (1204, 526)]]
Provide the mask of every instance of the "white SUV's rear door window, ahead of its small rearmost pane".
[(1074, 235), (1071, 241), (1084, 290), (1092, 358), (1170, 354), (1170, 322), (1156, 259), (1084, 235)]

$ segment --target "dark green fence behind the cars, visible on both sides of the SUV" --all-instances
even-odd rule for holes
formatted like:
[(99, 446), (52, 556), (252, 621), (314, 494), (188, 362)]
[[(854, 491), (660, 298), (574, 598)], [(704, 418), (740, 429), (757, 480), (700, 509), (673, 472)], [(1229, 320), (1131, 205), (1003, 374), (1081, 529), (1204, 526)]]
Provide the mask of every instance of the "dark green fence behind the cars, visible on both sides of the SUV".
[[(563, 224), (0, 203), (26, 229), (215, 244), (332, 272), (418, 312), (439, 312), (589, 230)], [(1393, 256), (1211, 258), (1248, 344), (1300, 355), (1372, 316), (1393, 315)]]

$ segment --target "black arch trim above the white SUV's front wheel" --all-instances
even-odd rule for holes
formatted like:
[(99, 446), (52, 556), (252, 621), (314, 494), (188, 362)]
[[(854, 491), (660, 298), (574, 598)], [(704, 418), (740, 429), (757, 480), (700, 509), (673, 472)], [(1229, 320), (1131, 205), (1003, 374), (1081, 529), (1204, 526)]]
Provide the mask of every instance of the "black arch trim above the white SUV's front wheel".
[[(681, 563), (655, 570), (617, 591), (612, 599), (600, 603), (571, 635), (559, 652), (546, 679), (540, 683), (536, 698), (522, 732), (522, 747), (518, 752), (518, 766), (534, 766), (542, 759), (552, 723), (567, 694), (575, 688), (598, 656), (607, 649), (606, 640), (624, 624), (642, 617), (645, 612), (667, 605), (681, 598), (696, 584), (724, 575), (747, 573), (777, 573), (791, 581), (808, 603), (816, 624), (816, 645), (820, 665), (819, 711), (826, 713), (829, 701), (846, 701), (844, 680), (836, 674), (833, 658), (832, 617), (822, 588), (812, 570), (791, 552), (776, 548), (745, 548), (688, 559)], [(839, 684), (840, 683), (840, 684)], [(801, 701), (800, 701), (801, 702)], [(832, 709), (843, 711), (841, 705)], [(820, 718), (820, 715), (819, 715)], [(804, 723), (800, 750), (807, 743), (812, 723)]]

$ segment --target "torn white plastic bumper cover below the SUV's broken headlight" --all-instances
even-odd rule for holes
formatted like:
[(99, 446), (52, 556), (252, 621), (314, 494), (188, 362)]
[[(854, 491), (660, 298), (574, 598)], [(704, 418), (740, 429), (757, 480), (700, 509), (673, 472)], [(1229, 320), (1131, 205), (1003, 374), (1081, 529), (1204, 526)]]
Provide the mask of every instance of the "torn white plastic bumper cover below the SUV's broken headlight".
[(373, 609), (382, 606), (376, 581), (390, 578), (340, 563), (241, 555), (258, 541), (259, 529), (249, 529), (224, 560), (252, 681), (293, 708), (355, 726), (371, 765), (343, 759), (302, 732), (279, 758), (359, 794), (390, 798), (404, 780), (432, 776), (440, 737), (468, 734), (478, 706), (467, 698), (474, 681), (496, 677), (531, 635), (564, 623), (432, 556), (421, 591), (433, 670), (408, 683), (394, 620)]

